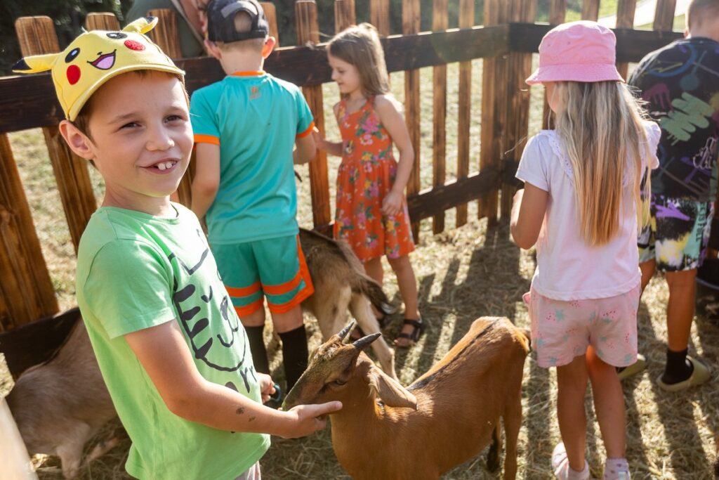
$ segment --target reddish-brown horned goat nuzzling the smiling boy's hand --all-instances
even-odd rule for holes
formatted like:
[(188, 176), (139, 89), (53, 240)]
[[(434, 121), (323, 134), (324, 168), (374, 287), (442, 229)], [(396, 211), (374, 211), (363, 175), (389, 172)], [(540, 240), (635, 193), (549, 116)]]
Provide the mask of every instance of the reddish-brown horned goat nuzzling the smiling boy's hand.
[(331, 415), (334, 453), (354, 479), (437, 479), (490, 440), (497, 468), (500, 417), (505, 479), (517, 471), (521, 386), (529, 340), (507, 318), (482, 317), (406, 389), (362, 352), (379, 334), (344, 343), (352, 325), (321, 345), (283, 408), (342, 401)]

